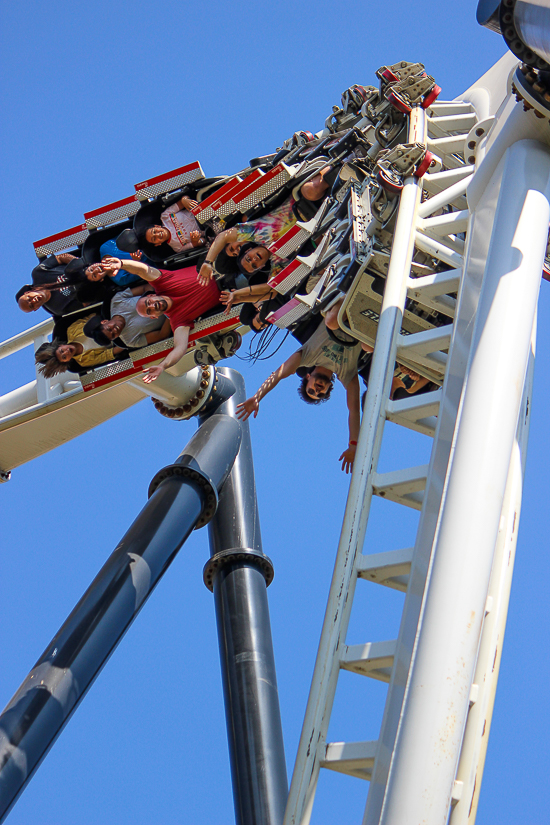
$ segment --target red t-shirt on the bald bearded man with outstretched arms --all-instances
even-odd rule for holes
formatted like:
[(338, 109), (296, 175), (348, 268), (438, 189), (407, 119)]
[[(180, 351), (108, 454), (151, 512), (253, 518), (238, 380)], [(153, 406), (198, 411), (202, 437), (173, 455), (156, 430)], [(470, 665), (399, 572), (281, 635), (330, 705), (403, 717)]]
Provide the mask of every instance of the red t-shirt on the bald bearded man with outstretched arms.
[(197, 281), (194, 266), (185, 269), (159, 269), (160, 278), (153, 281), (157, 295), (166, 295), (173, 301), (172, 308), (165, 314), (170, 319), (172, 330), (178, 327), (193, 327), (193, 321), (220, 302), (220, 290), (214, 279), (208, 286)]

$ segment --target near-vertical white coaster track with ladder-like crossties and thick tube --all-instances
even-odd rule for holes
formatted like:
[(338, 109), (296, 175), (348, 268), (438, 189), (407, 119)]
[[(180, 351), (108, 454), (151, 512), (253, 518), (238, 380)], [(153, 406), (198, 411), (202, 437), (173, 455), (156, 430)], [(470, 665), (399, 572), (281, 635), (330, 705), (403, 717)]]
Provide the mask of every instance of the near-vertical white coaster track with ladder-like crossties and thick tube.
[[(413, 177), (407, 179), (401, 195), (356, 465), (285, 825), (307, 825), (310, 821), (321, 767), (370, 781), (365, 825), (416, 825), (417, 822), (431, 825), (446, 821), (449, 810), (452, 810), (452, 825), (475, 819), (519, 522), (532, 376), (532, 366), (529, 369), (527, 366), (529, 358), (532, 365), (530, 351), (534, 352), (531, 332), (548, 229), (548, 223), (544, 227), (544, 214), (542, 218), (537, 217), (537, 210), (548, 196), (545, 165), (548, 159), (542, 157), (542, 150), (542, 155), (539, 152), (537, 157), (536, 153), (527, 151), (522, 155), (518, 150), (521, 157), (514, 158), (516, 147), (505, 149), (508, 157), (504, 170), (497, 168), (468, 205), (464, 195), (474, 167), (470, 156), (461, 158), (460, 152), (464, 151), (461, 147), (472, 143), (470, 137), (477, 123), (473, 107), (467, 102), (438, 103), (430, 107), (428, 115), (422, 110), (413, 110), (408, 140), (427, 142), (442, 158), (444, 168), (426, 175), (420, 182)], [(485, 121), (478, 125), (483, 134), (476, 136), (476, 149), (470, 151), (478, 153), (479, 161), (483, 158), (484, 138), (489, 128)], [(462, 128), (467, 131), (460, 132)], [(514, 177), (514, 164), (518, 161), (529, 166), (531, 185), (540, 190), (541, 199), (537, 204), (530, 201), (519, 176)], [(420, 203), (422, 183), (431, 197)], [(450, 211), (434, 215), (442, 209)], [(494, 225), (492, 220), (488, 222), (488, 215), (498, 216)], [(466, 231), (466, 241), (456, 236)], [(519, 268), (510, 251), (512, 236), (514, 246), (519, 244), (523, 255)], [(423, 278), (409, 278), (414, 246), (451, 269)], [(507, 292), (501, 299), (495, 293), (503, 273)], [(449, 317), (454, 315), (454, 323), (406, 338), (401, 336), (400, 321), (407, 290), (410, 297), (420, 303), (437, 308)], [(456, 290), (459, 296), (455, 315), (455, 302), (448, 293)], [(509, 336), (513, 339), (515, 355), (513, 352), (510, 355), (508, 368), (497, 363), (492, 378), (487, 377), (490, 386), (484, 390), (483, 370), (487, 369), (487, 362), (490, 363), (491, 348), (498, 362), (499, 349), (507, 346), (509, 352), (512, 345), (499, 333), (495, 315), (501, 323), (509, 320), (514, 295), (522, 298), (517, 310), (517, 329)], [(448, 349), (448, 355), (441, 352), (442, 349)], [(443, 388), (435, 393), (389, 401), (396, 355), (407, 363), (430, 366), (445, 374)], [(513, 398), (507, 398), (503, 392), (507, 381), (515, 387)], [(499, 408), (503, 411), (506, 408), (506, 422), (502, 427), (500, 422), (495, 425), (495, 410), (489, 409), (492, 403), (503, 405)], [(485, 438), (490, 458), (486, 458), (479, 475), (494, 481), (498, 492), (487, 504), (487, 518), (479, 524), (476, 522), (483, 563), (476, 567), (472, 561), (477, 552), (473, 547), (465, 553), (470, 558), (470, 575), (475, 579), (471, 589), (475, 592), (461, 591), (460, 604), (450, 605), (445, 612), (441, 600), (449, 598), (453, 569), (455, 574), (457, 570), (460, 572), (460, 554), (456, 547), (449, 547), (452, 521), (460, 517), (463, 521), (479, 518), (474, 512), (475, 506), (464, 498), (464, 492), (468, 466), (471, 472), (472, 455), (475, 455), (475, 436), (468, 428), (472, 429), (472, 418), (476, 414), (483, 417), (485, 413), (486, 420), (480, 424), (478, 436)], [(386, 420), (434, 437), (428, 466), (377, 472)], [(495, 426), (502, 435), (503, 456), (498, 455), (492, 438)], [(493, 458), (499, 464), (494, 472), (486, 466)], [(459, 466), (461, 460), (462, 467)], [(472, 486), (475, 486), (473, 480)], [(371, 555), (361, 553), (373, 494), (421, 510), (414, 548)], [(359, 578), (406, 592), (396, 640), (345, 644)], [(454, 655), (460, 639), (468, 632), (464, 630), (464, 611), (474, 602), (478, 607), (481, 603), (481, 609), (473, 611), (464, 673), (460, 673), (451, 686), (450, 695), (456, 699), (458, 693), (461, 697), (461, 701), (457, 701), (460, 709), (456, 709), (455, 728), (447, 730), (444, 747), (436, 753), (437, 758), (432, 759), (432, 763), (438, 764), (428, 765), (426, 760), (437, 750), (430, 739), (436, 717), (447, 722), (450, 718), (449, 696), (441, 701), (434, 699), (439, 684), (447, 678), (441, 676), (445, 668), (447, 633), (441, 623), (448, 620), (449, 645), (454, 645)], [(433, 665), (430, 648), (442, 650), (442, 664), (438, 678), (425, 687), (424, 682), (429, 682), (426, 674), (430, 675)], [(389, 682), (378, 740), (327, 742), (340, 669)], [(430, 722), (433, 722), (432, 729), (429, 729)]]

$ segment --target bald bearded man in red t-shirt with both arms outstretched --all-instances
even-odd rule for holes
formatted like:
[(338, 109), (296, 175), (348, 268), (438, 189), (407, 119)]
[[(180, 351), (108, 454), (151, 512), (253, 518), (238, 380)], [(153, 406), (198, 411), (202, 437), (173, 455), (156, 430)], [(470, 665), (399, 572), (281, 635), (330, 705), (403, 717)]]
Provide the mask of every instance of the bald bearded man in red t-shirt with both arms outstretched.
[(155, 269), (140, 261), (121, 261), (119, 258), (106, 258), (102, 264), (111, 271), (126, 269), (139, 275), (144, 281), (150, 281), (154, 293), (142, 295), (136, 304), (136, 312), (143, 318), (159, 318), (166, 315), (174, 333), (174, 349), (155, 367), (145, 370), (143, 380), (150, 384), (169, 367), (173, 367), (187, 352), (189, 332), (193, 321), (220, 301), (220, 290), (216, 281), (209, 281), (206, 286), (197, 282), (197, 270), (194, 266), (175, 269), (173, 272)]

